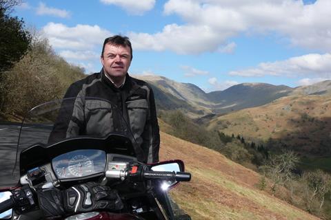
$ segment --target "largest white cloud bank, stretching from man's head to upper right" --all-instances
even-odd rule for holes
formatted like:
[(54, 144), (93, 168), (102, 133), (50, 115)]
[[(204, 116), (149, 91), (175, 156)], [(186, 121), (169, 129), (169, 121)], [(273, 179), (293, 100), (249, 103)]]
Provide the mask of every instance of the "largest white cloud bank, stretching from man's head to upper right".
[[(182, 25), (172, 23), (161, 32), (130, 36), (139, 50), (199, 54), (222, 49), (239, 34), (276, 33), (292, 45), (330, 52), (330, 8), (330, 0), (308, 5), (297, 0), (169, 0), (164, 14), (178, 15)], [(229, 47), (224, 49), (231, 52), (234, 44)]]

